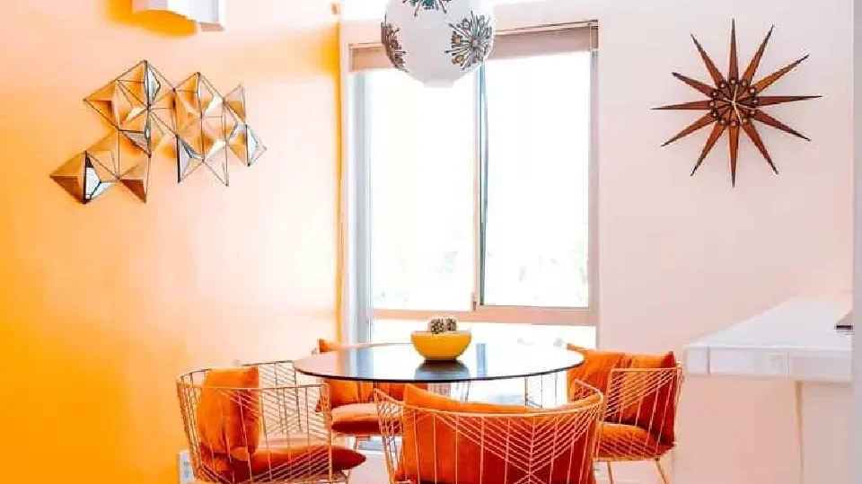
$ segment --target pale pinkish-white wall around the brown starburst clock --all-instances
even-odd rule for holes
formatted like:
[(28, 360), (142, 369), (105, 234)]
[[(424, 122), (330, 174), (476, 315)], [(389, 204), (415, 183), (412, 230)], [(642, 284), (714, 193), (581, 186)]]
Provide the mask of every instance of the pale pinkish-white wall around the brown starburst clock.
[[(512, 23), (598, 20), (600, 341), (605, 348), (682, 349), (797, 293), (847, 291), (852, 265), (851, 0), (556, 0), (498, 8)], [(736, 188), (722, 138), (689, 177), (707, 136), (659, 145), (697, 113), (654, 111), (700, 99), (670, 75), (707, 81), (689, 38), (726, 70), (731, 18), (745, 66), (770, 24), (761, 75), (811, 57), (770, 88), (822, 94), (771, 107), (810, 136), (761, 136), (770, 172), (741, 141)], [(345, 30), (376, 41), (374, 24)], [(676, 484), (797, 482), (791, 383), (691, 377), (683, 389)], [(643, 470), (647, 472), (647, 469)], [(653, 479), (652, 473), (630, 477)], [(623, 476), (625, 477), (625, 476)]]

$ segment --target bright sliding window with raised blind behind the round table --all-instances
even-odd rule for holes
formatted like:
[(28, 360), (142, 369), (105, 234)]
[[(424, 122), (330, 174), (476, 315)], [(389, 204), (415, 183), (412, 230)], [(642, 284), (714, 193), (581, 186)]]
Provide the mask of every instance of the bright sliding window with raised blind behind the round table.
[(445, 313), (479, 339), (594, 345), (594, 36), (499, 35), (450, 88), (351, 50), (354, 339)]

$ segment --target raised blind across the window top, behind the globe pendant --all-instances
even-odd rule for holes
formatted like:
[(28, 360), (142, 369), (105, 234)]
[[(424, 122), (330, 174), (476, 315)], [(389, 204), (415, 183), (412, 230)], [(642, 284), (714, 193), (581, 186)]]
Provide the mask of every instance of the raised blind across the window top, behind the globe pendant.
[[(598, 30), (594, 22), (569, 23), (497, 32), (490, 58), (592, 51), (596, 48), (598, 48)], [(392, 68), (392, 65), (383, 51), (382, 44), (350, 46), (351, 72), (388, 68)]]

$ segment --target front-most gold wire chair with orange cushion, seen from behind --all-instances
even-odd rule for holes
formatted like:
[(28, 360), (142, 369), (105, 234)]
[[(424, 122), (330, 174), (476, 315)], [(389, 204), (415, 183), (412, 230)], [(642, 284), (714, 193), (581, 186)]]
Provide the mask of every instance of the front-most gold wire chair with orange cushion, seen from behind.
[[(426, 409), (376, 392), (390, 484), (592, 484), (601, 392), (559, 409)], [(485, 407), (488, 409), (488, 407)]]

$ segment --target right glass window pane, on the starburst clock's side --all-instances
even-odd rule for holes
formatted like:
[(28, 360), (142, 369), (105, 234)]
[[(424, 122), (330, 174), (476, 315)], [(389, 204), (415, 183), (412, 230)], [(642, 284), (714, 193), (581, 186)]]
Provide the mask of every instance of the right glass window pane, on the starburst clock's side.
[(489, 61), (484, 304), (586, 307), (590, 54)]

